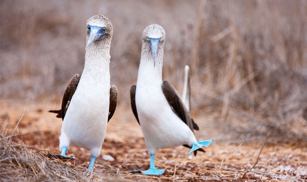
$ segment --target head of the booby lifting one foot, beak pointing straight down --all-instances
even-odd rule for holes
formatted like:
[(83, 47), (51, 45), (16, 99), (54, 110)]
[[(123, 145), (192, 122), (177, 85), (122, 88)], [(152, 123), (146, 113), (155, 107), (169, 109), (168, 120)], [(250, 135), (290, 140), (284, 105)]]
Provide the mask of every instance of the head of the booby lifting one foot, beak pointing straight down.
[[(161, 25), (152, 24), (147, 26), (143, 31), (143, 50), (151, 50), (153, 66), (156, 65), (156, 57), (159, 54), (163, 57), (163, 48), (165, 40), (165, 30)], [(145, 45), (144, 45), (145, 44)]]

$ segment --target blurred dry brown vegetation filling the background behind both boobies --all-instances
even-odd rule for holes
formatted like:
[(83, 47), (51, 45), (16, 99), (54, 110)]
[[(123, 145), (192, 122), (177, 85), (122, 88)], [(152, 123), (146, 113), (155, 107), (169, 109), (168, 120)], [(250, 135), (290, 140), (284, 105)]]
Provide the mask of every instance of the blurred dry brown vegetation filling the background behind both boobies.
[(163, 78), (181, 92), (190, 66), (198, 123), (213, 116), (232, 139), (270, 132), (275, 141), (307, 140), (305, 0), (1, 0), (1, 102), (60, 103), (82, 73), (86, 21), (95, 14), (113, 24), (118, 114), (130, 110), (142, 31), (157, 23), (166, 31)]

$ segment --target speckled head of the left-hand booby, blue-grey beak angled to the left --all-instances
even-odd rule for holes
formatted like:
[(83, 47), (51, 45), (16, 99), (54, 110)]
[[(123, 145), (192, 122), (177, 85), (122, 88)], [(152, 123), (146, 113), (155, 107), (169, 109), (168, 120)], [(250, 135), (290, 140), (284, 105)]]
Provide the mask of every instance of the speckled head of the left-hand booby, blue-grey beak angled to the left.
[(111, 44), (113, 26), (107, 17), (103, 15), (95, 15), (87, 20), (86, 33), (86, 47), (101, 40), (106, 40)]

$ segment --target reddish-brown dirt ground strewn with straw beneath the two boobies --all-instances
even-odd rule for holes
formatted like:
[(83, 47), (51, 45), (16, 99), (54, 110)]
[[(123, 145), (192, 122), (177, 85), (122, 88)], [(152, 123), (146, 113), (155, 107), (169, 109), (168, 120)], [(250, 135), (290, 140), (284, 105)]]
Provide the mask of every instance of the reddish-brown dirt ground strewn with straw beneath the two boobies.
[[(7, 125), (7, 132), (14, 130), (16, 124), (23, 142), (59, 154), (58, 149), (62, 120), (49, 109), (58, 108), (57, 104), (37, 104), (16, 106), (1, 103), (1, 130)], [(117, 113), (116, 113), (117, 112)], [(142, 131), (136, 120), (131, 117), (130, 110), (116, 110), (114, 118), (108, 123), (107, 135), (103, 143), (101, 155), (96, 159), (95, 170), (103, 173), (119, 173), (131, 181), (305, 181), (307, 180), (307, 144), (305, 143), (266, 143), (256, 165), (256, 172), (249, 172), (242, 178), (244, 170), (255, 164), (262, 141), (252, 142), (220, 142), (216, 140), (206, 153), (187, 156), (189, 149), (178, 146), (173, 149), (160, 149), (156, 155), (156, 166), (165, 169), (161, 176), (145, 176), (130, 173), (132, 170), (147, 169), (150, 159), (147, 154)], [(129, 113), (129, 114), (128, 114)], [(129, 120), (124, 118), (129, 115)], [(197, 117), (196, 117), (197, 118)], [(197, 119), (196, 119), (197, 120)], [(38, 133), (38, 130), (40, 135)], [(210, 130), (210, 128), (209, 128)], [(208, 132), (211, 135), (211, 132)], [(196, 132), (196, 136), (202, 136)], [(212, 136), (212, 135), (211, 135)], [(210, 138), (204, 138), (210, 139)], [(47, 152), (46, 152), (47, 153)], [(109, 156), (107, 156), (109, 155)], [(68, 156), (76, 156), (75, 167), (83, 170), (89, 164), (89, 150), (70, 147)], [(110, 157), (111, 156), (111, 157)], [(114, 158), (114, 161), (107, 160)], [(105, 159), (103, 159), (105, 158)], [(68, 164), (71, 165), (71, 164)], [(176, 170), (175, 170), (176, 169)]]

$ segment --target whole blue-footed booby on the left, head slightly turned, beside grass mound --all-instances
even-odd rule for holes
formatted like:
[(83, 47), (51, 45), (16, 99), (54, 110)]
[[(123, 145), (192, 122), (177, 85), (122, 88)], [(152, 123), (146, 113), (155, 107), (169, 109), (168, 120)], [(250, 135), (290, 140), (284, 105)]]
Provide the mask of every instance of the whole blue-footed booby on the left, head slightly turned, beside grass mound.
[(60, 139), (60, 159), (70, 159), (65, 153), (69, 145), (87, 148), (91, 152), (88, 169), (100, 155), (107, 123), (117, 103), (117, 88), (110, 87), (110, 45), (113, 34), (111, 21), (103, 15), (87, 20), (84, 70), (76, 74), (65, 90), (62, 108), (57, 117), (63, 124)]

